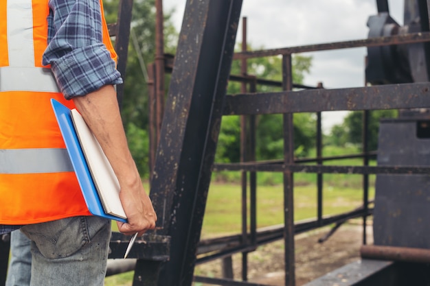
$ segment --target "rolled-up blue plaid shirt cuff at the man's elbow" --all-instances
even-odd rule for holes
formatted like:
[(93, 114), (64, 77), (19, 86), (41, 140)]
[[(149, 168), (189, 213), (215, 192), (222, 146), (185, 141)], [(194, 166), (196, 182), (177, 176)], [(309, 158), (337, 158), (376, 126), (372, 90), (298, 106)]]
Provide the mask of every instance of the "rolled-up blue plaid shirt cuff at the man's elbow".
[(51, 64), (66, 99), (87, 95), (107, 84), (122, 84), (115, 66), (111, 53), (102, 43), (74, 49)]

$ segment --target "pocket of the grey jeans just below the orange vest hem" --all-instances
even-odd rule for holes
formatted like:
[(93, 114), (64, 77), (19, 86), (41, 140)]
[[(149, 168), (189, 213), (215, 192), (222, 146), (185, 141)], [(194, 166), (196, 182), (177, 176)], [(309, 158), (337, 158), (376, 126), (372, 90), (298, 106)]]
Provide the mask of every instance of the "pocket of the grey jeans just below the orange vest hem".
[(90, 241), (85, 217), (30, 224), (23, 226), (21, 231), (34, 241), (39, 252), (47, 259), (69, 257)]

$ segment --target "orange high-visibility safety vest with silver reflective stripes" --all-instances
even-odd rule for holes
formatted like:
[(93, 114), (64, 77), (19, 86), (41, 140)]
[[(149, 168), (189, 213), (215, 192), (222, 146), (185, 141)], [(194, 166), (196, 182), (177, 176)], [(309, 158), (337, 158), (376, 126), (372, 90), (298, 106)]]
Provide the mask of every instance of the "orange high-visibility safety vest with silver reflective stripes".
[[(73, 102), (64, 99), (41, 63), (47, 3), (0, 1), (0, 224), (90, 215), (49, 99), (69, 108)], [(116, 60), (102, 18), (104, 44)]]

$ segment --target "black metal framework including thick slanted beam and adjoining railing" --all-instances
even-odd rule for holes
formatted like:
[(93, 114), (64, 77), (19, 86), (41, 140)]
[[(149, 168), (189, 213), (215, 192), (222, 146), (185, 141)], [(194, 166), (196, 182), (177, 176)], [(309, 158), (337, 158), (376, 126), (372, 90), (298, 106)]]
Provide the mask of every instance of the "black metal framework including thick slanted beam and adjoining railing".
[[(131, 0), (122, 0), (131, 10)], [(187, 1), (183, 27), (172, 66), (170, 90), (163, 108), (163, 122), (157, 134), (156, 156), (153, 157), (150, 196), (159, 215), (157, 230), (137, 241), (130, 257), (136, 258), (133, 285), (191, 285), (201, 281), (217, 285), (256, 285), (247, 283), (247, 252), (255, 250), (263, 243), (284, 239), (285, 244), (285, 285), (295, 285), (294, 235), (328, 224), (341, 224), (352, 217), (365, 217), (372, 213), (368, 207), (367, 175), (369, 174), (429, 174), (430, 167), (416, 166), (369, 166), (368, 159), (374, 156), (367, 147), (362, 154), (343, 158), (363, 158), (362, 166), (328, 166), (324, 161), (335, 158), (321, 156), (321, 116), (328, 110), (364, 110), (364, 126), (367, 126), (369, 110), (394, 108), (429, 108), (430, 90), (428, 82), (409, 84), (389, 84), (363, 88), (324, 89), (307, 88), (293, 91), (291, 57), (294, 53), (306, 51), (326, 51), (352, 47), (382, 47), (430, 41), (428, 10), (430, 1), (420, 1), (425, 8), (427, 29), (398, 36), (382, 36), (365, 40), (288, 47), (264, 51), (242, 51), (234, 54), (236, 29), (240, 16), (240, 0)], [(378, 11), (388, 10), (387, 1), (377, 1)], [(422, 18), (423, 19), (423, 18)], [(122, 20), (121, 20), (122, 21)], [(125, 20), (124, 20), (125, 21)], [(130, 19), (128, 21), (129, 23)], [(120, 25), (121, 26), (121, 25)], [(124, 26), (123, 26), (124, 27)], [(121, 32), (120, 32), (121, 33)], [(126, 32), (128, 35), (128, 32)], [(126, 53), (126, 51), (124, 51)], [(121, 51), (119, 51), (121, 55)], [(159, 56), (161, 56), (159, 54)], [(280, 83), (269, 83), (245, 75), (229, 76), (233, 59), (246, 60), (265, 56), (282, 56), (283, 77)], [(126, 56), (125, 56), (126, 57)], [(170, 58), (163, 57), (165, 67)], [(121, 59), (121, 56), (120, 56)], [(120, 66), (119, 66), (120, 68)], [(153, 73), (163, 75), (160, 70)], [(248, 89), (240, 95), (225, 95), (227, 80), (247, 82)], [(278, 84), (284, 91), (277, 93), (255, 93), (257, 84)], [(248, 92), (248, 93), (247, 93)], [(161, 101), (162, 102), (162, 101)], [(162, 104), (164, 104), (162, 102)], [(160, 106), (155, 106), (160, 108)], [(155, 109), (157, 110), (157, 109)], [(295, 160), (293, 156), (293, 113), (317, 112), (317, 158)], [(262, 114), (280, 113), (284, 115), (284, 160), (256, 162), (253, 157), (255, 134), (254, 117)], [(242, 163), (216, 164), (214, 154), (220, 128), (220, 119), (227, 115), (242, 115), (242, 130), (248, 125), (249, 133), (242, 133)], [(160, 115), (158, 115), (160, 116)], [(160, 123), (160, 122), (159, 122)], [(158, 123), (158, 124), (159, 124)], [(247, 124), (246, 124), (247, 123)], [(365, 128), (366, 129), (366, 128)], [(157, 130), (157, 126), (155, 126)], [(366, 134), (366, 132), (364, 132)], [(366, 146), (366, 135), (364, 146)], [(245, 140), (251, 138), (252, 140)], [(245, 152), (245, 150), (248, 150)], [(302, 163), (314, 162), (315, 165)], [(247, 199), (247, 176), (250, 182), (250, 231), (247, 231), (247, 206), (242, 209), (242, 233), (210, 241), (200, 241), (201, 224), (205, 211), (207, 191), (212, 171), (242, 171), (242, 194), (244, 205)], [(284, 174), (284, 226), (269, 230), (256, 228), (256, 178), (258, 171), (277, 171)], [(317, 218), (310, 222), (294, 224), (293, 217), (293, 174), (308, 172), (319, 175)], [(363, 175), (363, 207), (348, 213), (324, 217), (322, 215), (321, 174), (361, 174)], [(363, 228), (364, 229), (364, 228)], [(363, 237), (364, 240), (364, 237)], [(127, 237), (114, 235), (111, 241), (111, 257), (123, 253)], [(365, 242), (365, 241), (363, 241)], [(3, 248), (3, 245), (1, 246)], [(199, 257), (196, 254), (212, 252)], [(242, 281), (231, 278), (194, 277), (194, 265), (212, 259), (225, 258), (238, 252), (243, 253)], [(7, 262), (5, 257), (1, 261)], [(227, 263), (228, 264), (228, 263)], [(2, 273), (0, 273), (0, 276)], [(5, 275), (5, 272), (4, 272)]]

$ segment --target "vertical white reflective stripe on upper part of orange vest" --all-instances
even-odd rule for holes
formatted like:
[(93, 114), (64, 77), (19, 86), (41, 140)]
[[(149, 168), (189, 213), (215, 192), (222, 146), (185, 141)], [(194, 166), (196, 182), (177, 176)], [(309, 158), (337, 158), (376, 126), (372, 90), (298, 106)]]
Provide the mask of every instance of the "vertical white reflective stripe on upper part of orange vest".
[(34, 67), (32, 0), (7, 1), (10, 67)]

